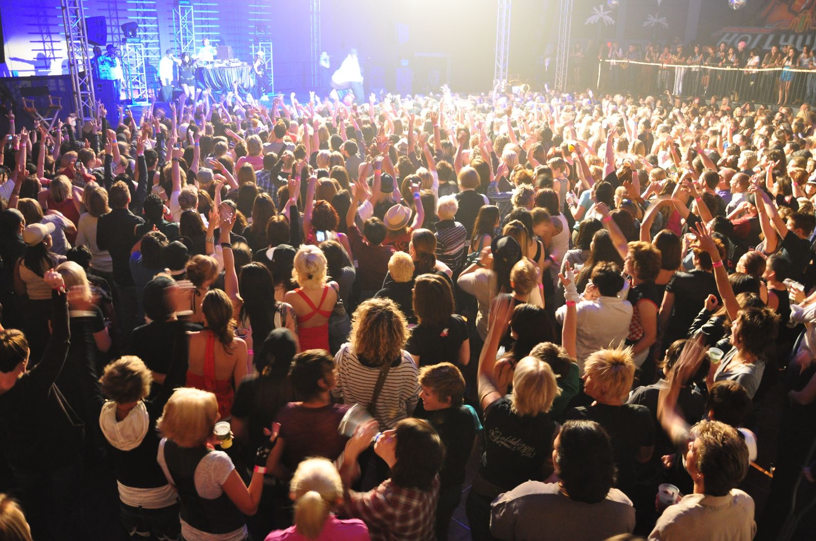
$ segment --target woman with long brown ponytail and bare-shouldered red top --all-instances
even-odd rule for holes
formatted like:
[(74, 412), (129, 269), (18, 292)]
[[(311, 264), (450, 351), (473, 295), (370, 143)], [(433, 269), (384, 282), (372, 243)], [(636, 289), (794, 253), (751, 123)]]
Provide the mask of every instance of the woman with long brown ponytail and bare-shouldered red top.
[(215, 393), (219, 414), (228, 419), (235, 389), (249, 372), (246, 342), (235, 336), (233, 302), (224, 291), (207, 292), (202, 314), (204, 330), (188, 332), (187, 385)]

